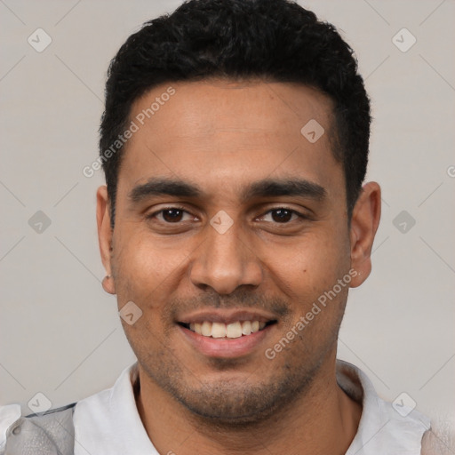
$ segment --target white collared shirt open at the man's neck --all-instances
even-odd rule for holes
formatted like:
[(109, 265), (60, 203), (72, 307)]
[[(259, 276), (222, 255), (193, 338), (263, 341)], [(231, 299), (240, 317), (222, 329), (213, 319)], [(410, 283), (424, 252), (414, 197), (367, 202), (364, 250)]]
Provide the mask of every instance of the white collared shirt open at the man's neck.
[[(132, 384), (137, 374), (134, 363), (114, 387), (76, 404), (75, 455), (159, 455), (136, 407)], [(337, 361), (337, 380), (347, 395), (363, 403), (360, 424), (346, 455), (420, 455), (422, 436), (430, 427), (426, 416), (401, 405), (396, 411), (379, 398), (363, 371), (350, 363)], [(0, 408), (0, 449), (8, 427), (19, 418), (14, 406)]]

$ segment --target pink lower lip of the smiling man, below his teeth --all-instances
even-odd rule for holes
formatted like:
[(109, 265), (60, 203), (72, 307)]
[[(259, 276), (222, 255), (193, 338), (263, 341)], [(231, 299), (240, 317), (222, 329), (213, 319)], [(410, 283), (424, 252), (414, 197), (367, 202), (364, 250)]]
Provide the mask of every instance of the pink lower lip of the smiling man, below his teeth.
[(235, 358), (249, 355), (263, 341), (275, 324), (267, 325), (261, 331), (255, 331), (250, 335), (243, 335), (239, 338), (212, 338), (199, 335), (178, 325), (180, 333), (188, 340), (191, 346), (195, 347), (203, 355), (209, 357)]

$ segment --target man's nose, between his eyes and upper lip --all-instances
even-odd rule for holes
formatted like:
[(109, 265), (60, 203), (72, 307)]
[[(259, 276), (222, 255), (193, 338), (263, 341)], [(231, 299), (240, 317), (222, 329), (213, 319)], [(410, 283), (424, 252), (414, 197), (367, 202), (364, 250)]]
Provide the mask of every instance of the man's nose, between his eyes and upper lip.
[(210, 286), (219, 294), (230, 294), (242, 285), (259, 286), (263, 275), (260, 259), (238, 225), (234, 223), (224, 233), (207, 225), (190, 269), (190, 280), (196, 286)]

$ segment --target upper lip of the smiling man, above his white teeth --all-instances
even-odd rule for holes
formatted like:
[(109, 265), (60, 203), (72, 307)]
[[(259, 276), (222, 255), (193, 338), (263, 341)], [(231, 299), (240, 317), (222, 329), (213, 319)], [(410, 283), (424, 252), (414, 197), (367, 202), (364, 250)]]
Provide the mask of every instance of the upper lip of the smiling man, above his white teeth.
[(179, 315), (177, 322), (179, 323), (235, 323), (237, 321), (259, 321), (259, 323), (268, 323), (276, 321), (276, 316), (260, 309), (251, 308), (235, 308), (235, 309), (213, 309), (207, 308), (197, 310), (185, 315)]

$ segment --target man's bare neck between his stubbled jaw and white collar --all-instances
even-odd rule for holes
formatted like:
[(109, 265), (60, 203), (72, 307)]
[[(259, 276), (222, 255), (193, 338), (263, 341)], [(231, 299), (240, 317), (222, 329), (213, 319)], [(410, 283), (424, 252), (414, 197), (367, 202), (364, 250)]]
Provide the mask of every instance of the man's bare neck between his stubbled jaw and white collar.
[[(235, 455), (252, 451), (344, 454), (354, 439), (362, 408), (337, 384), (335, 355), (304, 393), (265, 420), (219, 425), (188, 411), (140, 368), (140, 418), (160, 453)], [(296, 451), (299, 448), (299, 451)]]

